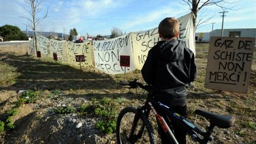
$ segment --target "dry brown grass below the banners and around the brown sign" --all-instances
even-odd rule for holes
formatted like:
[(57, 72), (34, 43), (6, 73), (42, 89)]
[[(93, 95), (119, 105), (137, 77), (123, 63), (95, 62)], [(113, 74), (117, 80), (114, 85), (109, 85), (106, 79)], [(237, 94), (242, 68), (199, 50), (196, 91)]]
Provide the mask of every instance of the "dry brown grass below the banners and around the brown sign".
[[(125, 98), (127, 101), (120, 105), (120, 109), (126, 105), (137, 105), (139, 103), (131, 97), (129, 89), (120, 88), (118, 82), (124, 79), (124, 75), (95, 73), (92, 68), (82, 69), (81, 72), (79, 68), (72, 68), (60, 62), (55, 63), (52, 59), (41, 58), (39, 60), (33, 57), (19, 56), (17, 54), (24, 54), (26, 46), (24, 46), (24, 49), (18, 48), (19, 50), (17, 50), (17, 47), (13, 47), (11, 53), (4, 53), (6, 51), (0, 47), (0, 68), (5, 69), (4, 71), (0, 69), (0, 95), (4, 95), (0, 98), (0, 105), (6, 108), (6, 110), (4, 108), (0, 109), (0, 114), (11, 107), (11, 103), (4, 103), (4, 101), (11, 100), (9, 95), (13, 95), (19, 89), (40, 89), (43, 95), (60, 91), (62, 97), (81, 97), (87, 100), (104, 97)], [(255, 143), (256, 57), (254, 55), (248, 94), (213, 91), (204, 88), (208, 47), (208, 44), (197, 44), (196, 61), (199, 66), (199, 76), (195, 82), (196, 88), (190, 89), (188, 95), (189, 117), (191, 120), (195, 119), (192, 111), (196, 108), (221, 114), (231, 114), (236, 117), (235, 126), (229, 129), (216, 129), (214, 143)], [(5, 50), (7, 49), (5, 47)], [(127, 73), (126, 79), (132, 80), (134, 78), (139, 79), (140, 82), (143, 81), (140, 71)], [(197, 119), (196, 123), (204, 126), (207, 122), (203, 119)], [(30, 125), (31, 121), (24, 120), (23, 124)], [(30, 125), (30, 128), (27, 127), (27, 129), (32, 131), (33, 126)], [(24, 129), (24, 131), (27, 131), (27, 129)], [(23, 133), (16, 137), (25, 139), (24, 137), (27, 135)], [(103, 139), (104, 137), (108, 139), (108, 142), (109, 140), (115, 140), (114, 135), (103, 136)], [(10, 139), (15, 139), (15, 137)], [(7, 140), (6, 142), (12, 141)]]

